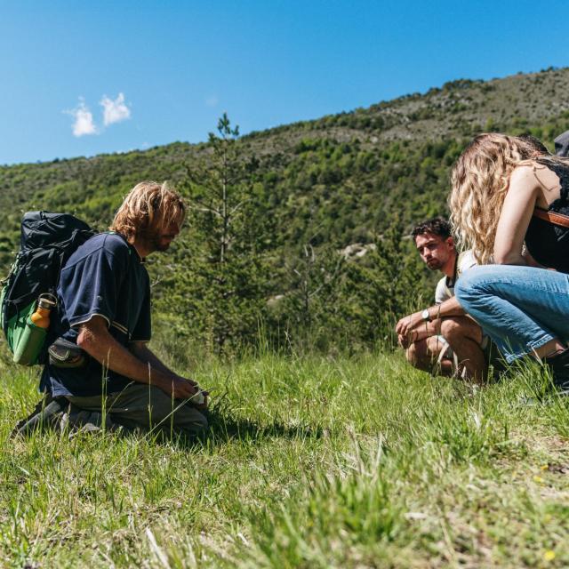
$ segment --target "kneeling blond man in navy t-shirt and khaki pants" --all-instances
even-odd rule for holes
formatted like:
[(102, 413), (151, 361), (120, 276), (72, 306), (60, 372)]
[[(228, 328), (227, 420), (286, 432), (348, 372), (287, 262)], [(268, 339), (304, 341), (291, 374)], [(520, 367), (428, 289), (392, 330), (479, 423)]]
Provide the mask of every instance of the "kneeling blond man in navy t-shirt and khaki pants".
[(111, 231), (88, 239), (62, 268), (52, 325), (64, 355), (66, 346), (80, 350), (69, 361), (50, 358), (40, 389), (48, 399), (70, 404), (72, 426), (106, 421), (110, 428), (188, 438), (206, 429), (207, 394), (147, 346), (150, 284), (144, 262), (168, 249), (184, 217), (180, 196), (165, 184), (141, 182), (116, 212)]

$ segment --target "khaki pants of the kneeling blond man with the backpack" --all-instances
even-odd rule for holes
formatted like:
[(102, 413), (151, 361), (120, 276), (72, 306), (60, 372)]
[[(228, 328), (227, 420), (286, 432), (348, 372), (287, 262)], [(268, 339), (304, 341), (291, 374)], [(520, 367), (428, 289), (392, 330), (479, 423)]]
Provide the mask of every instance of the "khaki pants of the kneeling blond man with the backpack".
[(126, 429), (190, 438), (207, 429), (207, 419), (195, 407), (143, 383), (131, 383), (107, 397), (66, 398), (71, 404), (68, 421), (74, 427), (100, 428), (104, 423), (107, 429), (120, 425)]

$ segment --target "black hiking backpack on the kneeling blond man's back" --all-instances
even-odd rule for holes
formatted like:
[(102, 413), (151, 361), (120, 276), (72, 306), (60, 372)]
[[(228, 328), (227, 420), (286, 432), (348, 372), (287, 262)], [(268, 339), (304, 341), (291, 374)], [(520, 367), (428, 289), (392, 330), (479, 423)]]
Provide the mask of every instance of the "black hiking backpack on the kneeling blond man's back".
[[(36, 309), (40, 294), (55, 296), (60, 269), (76, 248), (94, 235), (97, 235), (96, 231), (68, 213), (24, 214), (20, 252), (12, 263), (10, 273), (2, 281), (0, 293), (0, 325), (12, 353), (28, 317)], [(46, 348), (27, 365), (43, 364)]]

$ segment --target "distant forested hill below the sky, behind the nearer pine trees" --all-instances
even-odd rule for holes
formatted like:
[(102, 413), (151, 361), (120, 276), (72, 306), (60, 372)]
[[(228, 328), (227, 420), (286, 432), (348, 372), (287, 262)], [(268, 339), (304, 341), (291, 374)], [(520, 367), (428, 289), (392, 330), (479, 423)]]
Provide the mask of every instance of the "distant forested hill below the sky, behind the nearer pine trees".
[[(301, 273), (293, 268), (295, 260), (313, 262), (325, 248), (381, 244), (389, 231), (396, 243), (413, 222), (445, 214), (450, 167), (477, 132), (531, 132), (552, 149), (555, 136), (569, 129), (567, 92), (569, 68), (489, 82), (459, 80), (426, 94), (238, 139), (236, 155), (249, 172), (245, 185), (264, 224), (262, 244), (254, 250), (272, 275), (265, 297), (286, 296), (301, 286), (287, 277)], [(238, 116), (230, 119), (239, 123)], [(188, 188), (210, 156), (208, 143), (174, 142), (146, 151), (0, 167), (0, 265), (5, 271), (17, 248), (22, 212), (74, 212), (104, 228), (136, 182), (167, 179)], [(159, 264), (173, 262), (165, 255)], [(418, 286), (427, 293), (425, 283), (431, 281)], [(157, 285), (158, 297), (164, 285)], [(304, 296), (308, 306), (317, 293)]]

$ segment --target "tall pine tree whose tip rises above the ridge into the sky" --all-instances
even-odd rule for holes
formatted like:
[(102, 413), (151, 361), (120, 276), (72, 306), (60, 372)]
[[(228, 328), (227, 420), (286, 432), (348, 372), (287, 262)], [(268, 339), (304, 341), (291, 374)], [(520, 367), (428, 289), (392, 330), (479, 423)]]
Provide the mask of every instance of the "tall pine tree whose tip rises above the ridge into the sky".
[(254, 182), (256, 161), (244, 156), (227, 114), (210, 133), (204, 158), (188, 165), (185, 303), (191, 326), (215, 354), (257, 340), (263, 316), (264, 208)]

